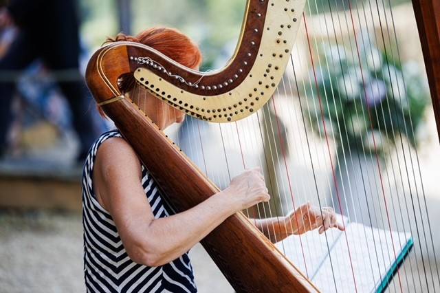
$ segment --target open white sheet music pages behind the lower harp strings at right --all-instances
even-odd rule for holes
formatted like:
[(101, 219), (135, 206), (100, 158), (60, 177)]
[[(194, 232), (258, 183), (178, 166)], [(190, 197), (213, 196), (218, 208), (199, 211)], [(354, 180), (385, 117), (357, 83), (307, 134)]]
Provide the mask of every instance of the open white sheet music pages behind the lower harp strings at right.
[[(346, 233), (338, 230), (327, 232), (330, 254), (325, 235), (319, 235), (317, 231), (301, 237), (305, 258), (298, 236), (285, 239), (284, 248), (287, 258), (303, 272), (306, 272), (307, 264), (307, 275), (320, 290), (355, 292), (356, 286), (358, 292), (372, 292), (382, 283), (410, 238), (409, 233), (350, 223), (346, 225)], [(283, 249), (281, 243), (277, 243), (277, 246)], [(353, 282), (353, 274), (356, 284)]]

